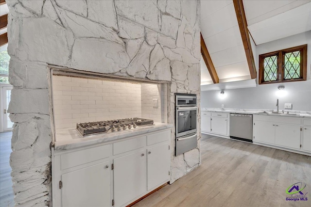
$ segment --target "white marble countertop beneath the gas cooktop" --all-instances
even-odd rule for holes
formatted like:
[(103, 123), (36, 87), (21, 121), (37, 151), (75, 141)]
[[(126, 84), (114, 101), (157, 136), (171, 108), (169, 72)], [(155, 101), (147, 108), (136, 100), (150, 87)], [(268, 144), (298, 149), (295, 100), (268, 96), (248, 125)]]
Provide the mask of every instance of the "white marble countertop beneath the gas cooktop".
[(54, 150), (68, 150), (97, 143), (107, 143), (171, 127), (173, 127), (172, 124), (154, 123), (150, 126), (137, 127), (135, 129), (119, 132), (90, 135), (86, 137), (82, 137), (75, 128), (59, 129), (56, 131), (56, 142), (54, 143)]

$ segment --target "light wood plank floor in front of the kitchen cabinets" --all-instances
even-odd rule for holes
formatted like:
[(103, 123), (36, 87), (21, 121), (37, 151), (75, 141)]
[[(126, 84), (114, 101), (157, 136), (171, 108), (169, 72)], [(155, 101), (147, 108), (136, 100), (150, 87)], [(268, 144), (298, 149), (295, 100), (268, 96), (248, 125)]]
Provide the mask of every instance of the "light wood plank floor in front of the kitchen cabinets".
[[(311, 157), (202, 135), (202, 165), (134, 207), (310, 207)], [(286, 201), (307, 183), (308, 201)]]

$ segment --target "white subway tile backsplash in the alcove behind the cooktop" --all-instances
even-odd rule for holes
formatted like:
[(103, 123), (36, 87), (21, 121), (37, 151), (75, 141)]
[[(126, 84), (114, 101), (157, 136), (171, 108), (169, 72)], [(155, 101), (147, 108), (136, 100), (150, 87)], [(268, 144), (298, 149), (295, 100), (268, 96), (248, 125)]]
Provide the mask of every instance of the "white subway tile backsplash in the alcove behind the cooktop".
[[(166, 84), (129, 83), (53, 76), (55, 128), (130, 117), (167, 123)], [(154, 98), (158, 108), (153, 107)]]

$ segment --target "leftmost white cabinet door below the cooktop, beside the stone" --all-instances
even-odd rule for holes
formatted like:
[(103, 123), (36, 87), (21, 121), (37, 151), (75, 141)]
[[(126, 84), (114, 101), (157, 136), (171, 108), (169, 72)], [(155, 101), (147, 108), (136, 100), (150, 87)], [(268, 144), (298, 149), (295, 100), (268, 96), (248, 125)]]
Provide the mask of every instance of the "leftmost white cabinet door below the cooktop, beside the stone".
[(109, 207), (110, 170), (106, 161), (63, 174), (63, 207)]

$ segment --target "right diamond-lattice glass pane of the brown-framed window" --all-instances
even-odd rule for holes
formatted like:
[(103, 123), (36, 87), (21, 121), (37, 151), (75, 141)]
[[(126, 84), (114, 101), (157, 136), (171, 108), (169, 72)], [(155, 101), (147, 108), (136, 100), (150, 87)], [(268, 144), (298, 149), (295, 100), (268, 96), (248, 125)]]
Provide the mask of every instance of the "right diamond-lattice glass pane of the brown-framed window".
[(300, 50), (284, 55), (284, 80), (300, 78)]

